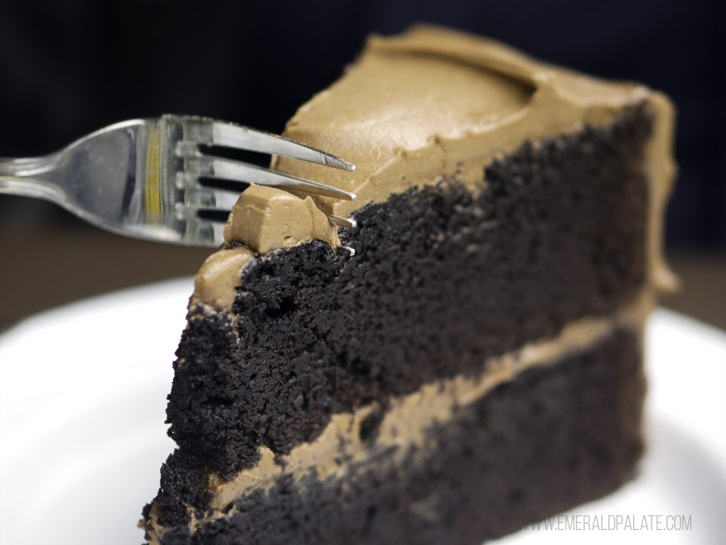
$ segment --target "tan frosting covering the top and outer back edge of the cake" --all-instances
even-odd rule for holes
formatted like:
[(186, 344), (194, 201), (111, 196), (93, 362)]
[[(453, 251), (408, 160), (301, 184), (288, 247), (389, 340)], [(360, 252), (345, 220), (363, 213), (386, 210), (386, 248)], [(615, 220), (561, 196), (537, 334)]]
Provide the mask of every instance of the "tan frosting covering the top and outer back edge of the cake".
[[(391, 193), (443, 177), (455, 176), (480, 191), (486, 187), (483, 166), (525, 140), (537, 145), (539, 139), (575, 132), (584, 124), (608, 125), (623, 108), (643, 102), (656, 114), (644, 166), (650, 183), (649, 280), (658, 288), (672, 288), (660, 233), (675, 172), (670, 158), (673, 110), (662, 94), (645, 86), (601, 81), (495, 41), (419, 26), (396, 38), (370, 39), (345, 76), (303, 105), (287, 124), (286, 137), (346, 158), (356, 165), (355, 172), (281, 157), (273, 159), (273, 166), (356, 193), (354, 202), (312, 198), (318, 209), (348, 216), (367, 203), (386, 201)], [(280, 224), (284, 207), (273, 211), (273, 201), (287, 194), (271, 190), (263, 195), (256, 188), (242, 193), (225, 229), (227, 242), (261, 253), (291, 246), (293, 240), (318, 238), (334, 246), (337, 235), (309, 221), (309, 206), (285, 209), (285, 222), (307, 227), (296, 230), (294, 239), (280, 239), (273, 227)], [(266, 199), (270, 202), (263, 204)], [(269, 213), (250, 214), (261, 206)], [(234, 300), (230, 282), (208, 273), (219, 270), (224, 258), (210, 259), (211, 265), (197, 276), (190, 305), (229, 310)], [(243, 265), (242, 253), (234, 254), (237, 278)]]

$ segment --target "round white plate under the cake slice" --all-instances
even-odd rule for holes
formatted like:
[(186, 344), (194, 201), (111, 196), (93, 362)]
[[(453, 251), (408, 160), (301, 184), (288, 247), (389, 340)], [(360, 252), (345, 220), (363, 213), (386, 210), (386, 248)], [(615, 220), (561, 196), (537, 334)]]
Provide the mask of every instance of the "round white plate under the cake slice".
[[(121, 291), (0, 336), (0, 544), (142, 543), (139, 513), (174, 448), (164, 411), (191, 291), (190, 279)], [(647, 350), (640, 477), (556, 530), (499, 543), (726, 543), (726, 334), (658, 310)]]

